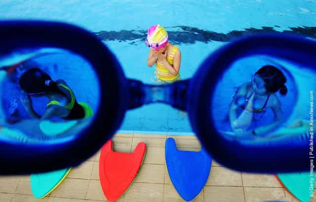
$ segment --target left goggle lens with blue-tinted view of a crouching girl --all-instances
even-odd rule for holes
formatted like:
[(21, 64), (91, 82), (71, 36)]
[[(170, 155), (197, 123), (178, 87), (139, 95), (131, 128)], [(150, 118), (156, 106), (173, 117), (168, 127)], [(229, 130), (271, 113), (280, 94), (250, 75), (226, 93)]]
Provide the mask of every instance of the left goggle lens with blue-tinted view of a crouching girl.
[(84, 58), (57, 48), (0, 55), (0, 139), (62, 142), (88, 127), (98, 108), (98, 79)]

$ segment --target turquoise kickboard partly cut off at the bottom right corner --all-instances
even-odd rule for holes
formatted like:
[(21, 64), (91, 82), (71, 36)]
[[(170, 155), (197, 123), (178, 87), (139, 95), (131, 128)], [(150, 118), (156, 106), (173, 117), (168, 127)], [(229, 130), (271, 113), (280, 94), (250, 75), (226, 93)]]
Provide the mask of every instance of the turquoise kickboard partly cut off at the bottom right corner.
[[(315, 173), (311, 175), (310, 172), (299, 173), (282, 173), (277, 174), (278, 179), (284, 187), (301, 202), (309, 202), (311, 195), (314, 192)], [(310, 190), (311, 182), (313, 183), (313, 190)]]

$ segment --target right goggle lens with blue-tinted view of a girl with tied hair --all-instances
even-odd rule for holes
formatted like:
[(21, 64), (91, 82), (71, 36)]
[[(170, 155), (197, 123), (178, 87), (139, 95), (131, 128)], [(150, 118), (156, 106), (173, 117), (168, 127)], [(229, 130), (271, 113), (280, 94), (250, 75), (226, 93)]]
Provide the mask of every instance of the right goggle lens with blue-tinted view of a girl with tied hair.
[[(235, 61), (216, 86), (212, 118), (226, 138), (243, 143), (309, 138), (309, 94), (316, 73), (271, 56)], [(299, 93), (298, 93), (299, 92)]]

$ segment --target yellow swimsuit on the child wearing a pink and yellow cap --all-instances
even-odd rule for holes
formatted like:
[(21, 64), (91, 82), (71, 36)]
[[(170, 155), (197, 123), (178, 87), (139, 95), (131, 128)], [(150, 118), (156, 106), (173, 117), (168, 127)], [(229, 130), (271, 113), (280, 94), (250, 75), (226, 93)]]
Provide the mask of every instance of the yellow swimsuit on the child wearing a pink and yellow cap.
[[(176, 52), (178, 51), (178, 46), (175, 46), (172, 48), (167, 60), (169, 64), (173, 65), (174, 64), (174, 57)], [(168, 69), (160, 62), (156, 62), (156, 71), (155, 71), (157, 77), (162, 80), (162, 81), (176, 81), (180, 79), (180, 74), (178, 73), (176, 76), (170, 74)]]

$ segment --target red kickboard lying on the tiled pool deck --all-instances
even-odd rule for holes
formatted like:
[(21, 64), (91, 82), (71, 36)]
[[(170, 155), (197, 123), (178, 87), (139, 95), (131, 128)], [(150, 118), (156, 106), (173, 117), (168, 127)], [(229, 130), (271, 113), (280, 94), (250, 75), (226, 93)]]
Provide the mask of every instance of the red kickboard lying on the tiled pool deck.
[(143, 162), (146, 144), (138, 143), (134, 152), (121, 153), (113, 151), (113, 142), (103, 145), (99, 161), (100, 183), (109, 202), (118, 200), (133, 183)]

